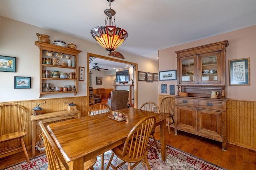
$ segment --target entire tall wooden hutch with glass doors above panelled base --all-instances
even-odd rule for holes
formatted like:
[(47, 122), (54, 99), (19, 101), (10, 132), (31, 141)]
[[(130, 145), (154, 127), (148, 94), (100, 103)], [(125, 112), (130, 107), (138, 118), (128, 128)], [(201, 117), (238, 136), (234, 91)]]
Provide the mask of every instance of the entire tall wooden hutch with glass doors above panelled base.
[[(178, 92), (188, 96), (175, 96), (175, 130), (222, 142), (226, 150), (226, 47), (220, 41), (194, 47), (177, 53)], [(218, 98), (210, 98), (218, 92)]]

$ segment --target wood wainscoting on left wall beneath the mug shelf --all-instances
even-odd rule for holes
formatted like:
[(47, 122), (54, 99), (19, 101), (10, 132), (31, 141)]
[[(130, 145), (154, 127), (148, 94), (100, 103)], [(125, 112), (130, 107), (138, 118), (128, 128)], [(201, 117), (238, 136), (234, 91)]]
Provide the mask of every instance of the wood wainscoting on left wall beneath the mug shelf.
[[(46, 104), (41, 104), (46, 102)], [(66, 104), (65, 104), (66, 102)], [(40, 100), (24, 100), (24, 101), (16, 101), (16, 102), (0, 102), (1, 104), (19, 104), (26, 108), (28, 112), (28, 120), (26, 123), (26, 131), (28, 134), (23, 137), (24, 143), (26, 145), (27, 149), (31, 149), (32, 147), (32, 123), (30, 120), (30, 115), (33, 115), (34, 110), (32, 110), (33, 107), (36, 107), (38, 104), (41, 104), (40, 107), (43, 108), (43, 113), (53, 112), (53, 111), (60, 111), (60, 110), (66, 110), (68, 108), (68, 104), (74, 103), (77, 106), (77, 109), (81, 111), (81, 117), (84, 117), (87, 115), (88, 108), (87, 108), (87, 97), (86, 96), (80, 96), (80, 97), (71, 97), (71, 98), (52, 98), (52, 99), (40, 99)], [(54, 121), (55, 122), (55, 121)], [(49, 122), (46, 123), (47, 125), (53, 123)], [(38, 136), (41, 133), (40, 127), (36, 127), (36, 141), (38, 141)], [(2, 146), (0, 144), (0, 150), (2, 150)], [(17, 150), (16, 152), (22, 152), (22, 149)], [(16, 152), (10, 152), (7, 155), (14, 154)], [(4, 154), (4, 156), (6, 156)]]

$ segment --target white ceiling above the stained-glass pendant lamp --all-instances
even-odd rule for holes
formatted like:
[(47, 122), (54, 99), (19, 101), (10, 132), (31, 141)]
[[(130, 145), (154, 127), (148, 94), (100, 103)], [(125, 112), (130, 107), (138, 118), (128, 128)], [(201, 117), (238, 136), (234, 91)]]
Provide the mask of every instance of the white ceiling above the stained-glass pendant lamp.
[[(104, 25), (107, 8), (107, 0), (0, 0), (1, 16), (95, 44), (90, 30)], [(155, 61), (160, 49), (256, 25), (256, 0), (114, 0), (111, 8), (129, 35), (117, 51)]]

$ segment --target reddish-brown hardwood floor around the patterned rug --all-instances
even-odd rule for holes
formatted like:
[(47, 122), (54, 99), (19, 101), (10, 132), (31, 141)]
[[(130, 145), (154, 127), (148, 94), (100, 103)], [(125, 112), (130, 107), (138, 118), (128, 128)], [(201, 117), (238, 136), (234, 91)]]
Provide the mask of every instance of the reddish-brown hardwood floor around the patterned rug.
[[(227, 151), (222, 150), (222, 143), (178, 131), (174, 135), (174, 129), (170, 128), (170, 135), (166, 127), (166, 142), (177, 149), (202, 158), (208, 162), (226, 168), (228, 170), (256, 170), (256, 151), (228, 144)], [(160, 140), (159, 127), (156, 127), (156, 139)], [(40, 153), (36, 150), (36, 156)], [(28, 150), (29, 158), (32, 150)], [(0, 158), (0, 169), (26, 160), (24, 153), (20, 152), (11, 156)]]

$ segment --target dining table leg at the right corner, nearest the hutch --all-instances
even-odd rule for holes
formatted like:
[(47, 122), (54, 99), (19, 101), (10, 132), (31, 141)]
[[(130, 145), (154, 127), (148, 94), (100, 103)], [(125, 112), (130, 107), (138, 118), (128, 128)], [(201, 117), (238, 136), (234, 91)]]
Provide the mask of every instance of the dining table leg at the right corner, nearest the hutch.
[(162, 160), (166, 161), (166, 119), (160, 124), (160, 142)]

